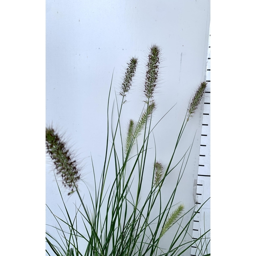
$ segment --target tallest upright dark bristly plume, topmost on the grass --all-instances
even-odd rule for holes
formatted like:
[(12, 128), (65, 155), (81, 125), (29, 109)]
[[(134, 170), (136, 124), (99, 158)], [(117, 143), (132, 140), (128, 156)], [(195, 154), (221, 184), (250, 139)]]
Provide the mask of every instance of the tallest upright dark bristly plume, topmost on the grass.
[(147, 71), (145, 79), (145, 96), (150, 99), (153, 97), (154, 89), (157, 85), (158, 71), (159, 71), (159, 55), (160, 48), (153, 45), (150, 48), (150, 54), (148, 55)]

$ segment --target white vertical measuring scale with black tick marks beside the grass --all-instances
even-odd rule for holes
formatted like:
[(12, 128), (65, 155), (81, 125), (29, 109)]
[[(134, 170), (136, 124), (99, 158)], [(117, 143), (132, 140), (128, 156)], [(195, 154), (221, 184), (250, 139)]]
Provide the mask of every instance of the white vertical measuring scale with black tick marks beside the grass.
[[(197, 177), (196, 208), (210, 197), (210, 31), (208, 40), (208, 53), (206, 65), (206, 82), (204, 97), (204, 110), (202, 120), (201, 144)], [(193, 222), (193, 238), (199, 238), (210, 229), (210, 200), (208, 200), (196, 214)], [(206, 238), (209, 238), (208, 233)], [(204, 244), (194, 244), (191, 246), (191, 256), (210, 255), (209, 239), (205, 239)], [(206, 250), (206, 244), (207, 250)], [(202, 251), (200, 251), (202, 249)]]

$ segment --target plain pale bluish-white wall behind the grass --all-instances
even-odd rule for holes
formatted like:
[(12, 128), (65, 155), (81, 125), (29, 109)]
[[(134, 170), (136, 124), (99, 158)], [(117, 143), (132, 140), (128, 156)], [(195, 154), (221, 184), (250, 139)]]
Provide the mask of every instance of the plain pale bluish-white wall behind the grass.
[[(145, 62), (152, 44), (162, 49), (154, 120), (159, 120), (177, 103), (154, 133), (157, 157), (167, 164), (189, 98), (205, 80), (209, 9), (209, 0), (46, 1), (46, 123), (66, 133), (84, 165), (84, 180), (89, 187), (93, 186), (89, 179), (91, 154), (96, 170), (100, 173), (102, 169), (112, 72), (114, 70), (113, 86), (118, 91), (126, 62), (132, 56), (139, 58), (135, 83), (122, 119), (125, 127), (127, 121), (136, 120), (141, 111)], [(202, 106), (200, 108), (188, 124), (180, 155), (177, 155), (179, 159), (197, 131), (180, 187), (181, 196), (177, 198), (177, 202), (182, 201), (187, 208), (194, 205)], [(47, 204), (59, 212), (50, 161), (46, 175)], [(166, 185), (166, 193), (168, 188)], [(66, 199), (72, 204), (75, 197)], [(46, 221), (53, 223), (48, 213)]]

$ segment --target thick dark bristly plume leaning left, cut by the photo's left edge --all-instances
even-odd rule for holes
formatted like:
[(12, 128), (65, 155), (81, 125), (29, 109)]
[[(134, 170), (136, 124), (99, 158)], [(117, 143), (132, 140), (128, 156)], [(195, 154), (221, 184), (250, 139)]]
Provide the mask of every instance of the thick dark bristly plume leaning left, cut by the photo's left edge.
[(62, 179), (62, 184), (74, 192), (75, 186), (80, 179), (80, 169), (76, 160), (67, 149), (66, 143), (59, 137), (52, 127), (46, 127), (46, 151), (55, 165), (56, 174)]

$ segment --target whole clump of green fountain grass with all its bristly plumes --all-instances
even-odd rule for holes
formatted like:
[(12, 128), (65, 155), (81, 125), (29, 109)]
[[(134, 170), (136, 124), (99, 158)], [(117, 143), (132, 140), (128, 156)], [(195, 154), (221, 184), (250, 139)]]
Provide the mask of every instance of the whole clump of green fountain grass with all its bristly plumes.
[[(158, 84), (160, 48), (156, 45), (150, 48), (144, 82), (144, 108), (138, 121), (129, 121), (126, 138), (123, 139), (120, 116), (126, 94), (129, 93), (132, 86), (137, 63), (138, 59), (135, 57), (131, 58), (127, 63), (119, 92), (121, 103), (117, 103), (118, 118), (115, 125), (113, 124), (112, 116), (109, 115), (110, 88), (105, 159), (100, 180), (96, 180), (96, 175), (94, 175), (94, 191), (88, 189), (87, 198), (89, 197), (91, 200), (91, 208), (84, 203), (81, 192), (78, 190), (78, 182), (81, 180), (81, 169), (77, 166), (76, 160), (73, 159), (67, 143), (58, 135), (53, 127), (46, 127), (46, 151), (53, 160), (56, 175), (62, 179), (62, 184), (70, 189), (68, 195), (76, 193), (80, 201), (80, 205), (76, 207), (75, 217), (73, 218), (70, 214), (71, 209), (68, 209), (66, 206), (61, 192), (60, 196), (65, 208), (65, 211), (63, 211), (65, 217), (57, 217), (49, 209), (56, 219), (58, 226), (55, 228), (60, 237), (55, 238), (49, 232), (46, 233), (46, 242), (48, 244), (46, 251), (48, 255), (183, 255), (185, 251), (190, 249), (191, 245), (195, 243), (199, 245), (204, 243), (205, 245), (208, 242), (205, 238), (209, 230), (204, 230), (200, 238), (191, 238), (190, 241), (185, 239), (197, 211), (194, 210), (194, 207), (185, 210), (186, 207), (182, 203), (178, 206), (174, 204), (177, 187), (187, 166), (193, 143), (184, 152), (180, 161), (173, 164), (173, 158), (179, 141), (187, 122), (200, 104), (206, 82), (200, 84), (189, 103), (188, 111), (181, 125), (169, 162), (162, 164), (160, 161), (155, 160), (152, 166), (151, 187), (148, 189), (148, 193), (143, 194), (143, 197), (141, 197), (141, 190), (145, 185), (143, 179), (145, 166), (148, 161), (151, 161), (148, 160), (147, 151), (148, 141), (155, 127), (152, 127), (151, 121), (156, 110), (154, 92)], [(117, 136), (120, 136), (121, 140), (117, 140)], [(139, 136), (142, 139), (141, 143), (137, 140)], [(110, 142), (110, 137), (112, 142)], [(118, 150), (120, 147), (117, 145), (119, 141), (121, 141), (121, 154)], [(132, 148), (135, 145), (137, 152), (132, 155), (132, 152), (134, 152)], [(114, 161), (115, 179), (111, 184), (107, 184), (107, 177), (113, 175), (110, 167), (111, 161)], [(163, 166), (165, 165), (166, 167), (164, 168)], [(170, 193), (167, 201), (163, 203), (162, 188), (165, 186), (166, 177), (178, 166), (179, 175), (176, 185), (172, 188), (172, 193)], [(93, 173), (95, 174), (94, 167)], [(138, 179), (134, 179), (135, 176)], [(188, 221), (184, 222), (184, 217), (188, 215)], [(78, 216), (81, 217), (82, 223), (78, 223)], [(160, 246), (161, 239), (166, 236), (170, 229), (173, 230), (173, 237), (166, 248), (162, 248)], [(86, 244), (86, 249), (81, 251), (80, 244)]]

